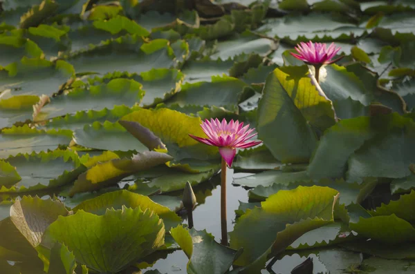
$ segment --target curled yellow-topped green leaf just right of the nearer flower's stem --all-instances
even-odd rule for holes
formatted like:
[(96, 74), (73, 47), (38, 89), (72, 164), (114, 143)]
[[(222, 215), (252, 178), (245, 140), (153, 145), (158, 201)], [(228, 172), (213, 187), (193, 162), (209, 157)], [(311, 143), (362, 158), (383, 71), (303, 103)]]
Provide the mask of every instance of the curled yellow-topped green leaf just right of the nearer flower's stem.
[(243, 273), (259, 271), (268, 255), (283, 251), (307, 231), (333, 222), (337, 197), (336, 190), (320, 186), (299, 186), (269, 197), (261, 208), (242, 215), (230, 233), (230, 247), (243, 247), (235, 264), (246, 266)]

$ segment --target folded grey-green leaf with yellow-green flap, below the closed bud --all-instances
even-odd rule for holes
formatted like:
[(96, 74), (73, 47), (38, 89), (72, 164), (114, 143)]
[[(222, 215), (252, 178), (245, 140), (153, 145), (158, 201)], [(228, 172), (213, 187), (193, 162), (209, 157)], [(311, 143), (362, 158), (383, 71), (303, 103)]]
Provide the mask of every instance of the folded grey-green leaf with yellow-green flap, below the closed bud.
[(187, 273), (226, 273), (241, 254), (241, 251), (218, 244), (212, 234), (206, 231), (177, 226), (170, 233), (189, 258)]

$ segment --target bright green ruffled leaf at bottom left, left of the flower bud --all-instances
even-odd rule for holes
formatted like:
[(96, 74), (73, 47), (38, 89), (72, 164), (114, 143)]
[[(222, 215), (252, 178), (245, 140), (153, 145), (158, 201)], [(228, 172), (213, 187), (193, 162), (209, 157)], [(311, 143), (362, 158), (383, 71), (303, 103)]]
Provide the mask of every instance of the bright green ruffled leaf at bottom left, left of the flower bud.
[(48, 235), (68, 246), (77, 262), (104, 273), (117, 273), (151, 254), (163, 246), (164, 234), (164, 224), (157, 215), (125, 207), (102, 216), (78, 211), (59, 217), (48, 228)]

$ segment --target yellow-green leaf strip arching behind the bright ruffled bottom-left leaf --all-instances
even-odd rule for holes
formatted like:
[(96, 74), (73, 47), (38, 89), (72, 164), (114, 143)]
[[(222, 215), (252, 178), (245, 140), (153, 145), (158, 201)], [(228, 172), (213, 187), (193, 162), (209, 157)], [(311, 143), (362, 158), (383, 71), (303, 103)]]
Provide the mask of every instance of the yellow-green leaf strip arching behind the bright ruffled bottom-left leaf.
[(149, 209), (149, 211), (153, 211), (158, 215), (158, 217), (160, 217), (160, 219), (163, 219), (167, 231), (181, 222), (181, 218), (178, 217), (176, 213), (170, 211), (169, 208), (151, 201), (151, 199), (147, 196), (132, 193), (127, 190), (104, 193), (93, 199), (87, 199), (73, 208), (73, 211), (76, 213), (77, 211), (82, 210), (95, 215), (104, 215), (107, 208), (118, 210), (122, 209), (122, 206), (127, 208), (140, 207), (142, 211), (147, 209)]

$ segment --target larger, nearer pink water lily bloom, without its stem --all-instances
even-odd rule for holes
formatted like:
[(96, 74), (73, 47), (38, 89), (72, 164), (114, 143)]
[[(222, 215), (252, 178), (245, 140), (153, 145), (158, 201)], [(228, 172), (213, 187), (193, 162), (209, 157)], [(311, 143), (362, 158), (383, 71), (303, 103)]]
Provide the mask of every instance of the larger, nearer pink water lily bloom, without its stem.
[(229, 167), (232, 166), (237, 153), (236, 148), (250, 148), (262, 143), (262, 141), (248, 141), (257, 133), (250, 135), (254, 129), (251, 128), (247, 131), (249, 124), (243, 126), (243, 123), (239, 123), (239, 121), (230, 120), (228, 124), (225, 119), (222, 120), (222, 123), (217, 118), (210, 119), (210, 121), (205, 119), (202, 121), (201, 127), (208, 138), (196, 137), (191, 134), (189, 136), (203, 144), (219, 147), (219, 153)]

